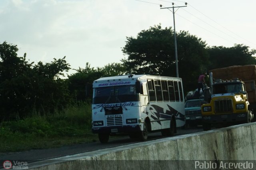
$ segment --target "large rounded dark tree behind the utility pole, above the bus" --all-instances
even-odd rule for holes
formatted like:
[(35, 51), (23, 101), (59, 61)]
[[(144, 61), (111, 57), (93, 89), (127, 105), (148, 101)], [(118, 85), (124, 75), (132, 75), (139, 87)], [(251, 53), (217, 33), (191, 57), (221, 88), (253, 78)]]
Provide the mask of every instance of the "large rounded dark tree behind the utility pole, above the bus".
[[(176, 77), (174, 32), (161, 25), (142, 30), (136, 38), (126, 37), (122, 51), (128, 55), (122, 59), (130, 73)], [(209, 64), (206, 43), (188, 32), (177, 34), (179, 77), (184, 89), (195, 89), (199, 74)]]

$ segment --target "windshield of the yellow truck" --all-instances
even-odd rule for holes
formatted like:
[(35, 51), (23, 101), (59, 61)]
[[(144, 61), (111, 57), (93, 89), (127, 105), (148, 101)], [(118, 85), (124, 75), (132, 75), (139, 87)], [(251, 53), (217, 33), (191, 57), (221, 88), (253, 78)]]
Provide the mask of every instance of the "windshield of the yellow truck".
[(216, 84), (213, 86), (213, 94), (241, 93), (244, 91), (242, 83)]

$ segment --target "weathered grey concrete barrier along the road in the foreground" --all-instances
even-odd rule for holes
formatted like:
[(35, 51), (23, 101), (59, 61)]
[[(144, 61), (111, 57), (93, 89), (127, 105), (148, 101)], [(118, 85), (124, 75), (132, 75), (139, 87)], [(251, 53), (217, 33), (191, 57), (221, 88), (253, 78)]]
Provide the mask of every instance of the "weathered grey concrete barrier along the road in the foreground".
[[(256, 123), (33, 162), (33, 170), (255, 168)], [(226, 164), (225, 164), (226, 163)], [(215, 166), (217, 166), (215, 168)], [(230, 168), (230, 167), (229, 167)], [(239, 169), (239, 168), (238, 168)]]

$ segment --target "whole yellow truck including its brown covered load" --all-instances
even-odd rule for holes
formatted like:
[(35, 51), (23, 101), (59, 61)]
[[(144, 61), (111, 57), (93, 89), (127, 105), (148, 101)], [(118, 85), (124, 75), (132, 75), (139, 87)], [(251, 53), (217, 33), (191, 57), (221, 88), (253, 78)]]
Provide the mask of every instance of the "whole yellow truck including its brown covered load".
[(250, 123), (256, 111), (256, 65), (210, 70), (211, 101), (201, 106), (204, 130)]

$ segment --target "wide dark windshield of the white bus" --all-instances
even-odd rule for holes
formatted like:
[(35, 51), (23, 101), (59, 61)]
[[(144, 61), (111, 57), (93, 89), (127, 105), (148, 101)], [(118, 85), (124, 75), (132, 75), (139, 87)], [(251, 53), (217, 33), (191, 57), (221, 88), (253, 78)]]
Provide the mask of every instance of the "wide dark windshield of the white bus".
[(93, 89), (92, 104), (124, 103), (129, 101), (139, 101), (139, 93), (136, 93), (135, 85), (98, 87)]

